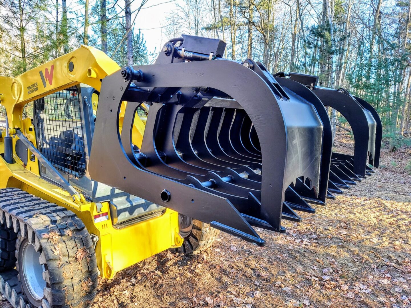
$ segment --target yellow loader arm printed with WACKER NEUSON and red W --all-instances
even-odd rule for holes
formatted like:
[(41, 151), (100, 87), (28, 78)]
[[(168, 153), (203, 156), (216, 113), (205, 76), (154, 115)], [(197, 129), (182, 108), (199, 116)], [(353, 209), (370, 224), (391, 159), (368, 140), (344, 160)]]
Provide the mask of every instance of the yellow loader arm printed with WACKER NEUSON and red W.
[[(0, 103), (7, 113), (8, 127), (21, 127), (21, 114), (25, 104), (48, 94), (85, 83), (98, 92), (102, 79), (118, 71), (120, 67), (104, 52), (81, 45), (80, 48), (13, 77), (0, 76)], [(92, 101), (92, 98), (89, 98)], [(97, 110), (98, 99), (92, 101)], [(125, 110), (124, 103), (124, 110)], [(124, 115), (120, 115), (122, 117)], [(135, 120), (134, 143), (142, 140), (144, 124)], [(27, 136), (28, 132), (23, 131)], [(7, 132), (6, 132), (7, 134)]]

